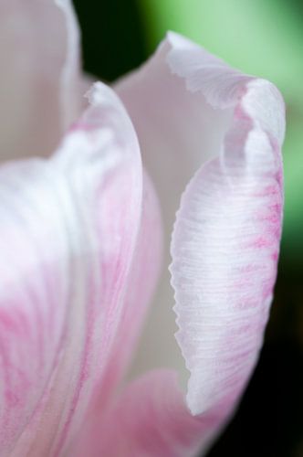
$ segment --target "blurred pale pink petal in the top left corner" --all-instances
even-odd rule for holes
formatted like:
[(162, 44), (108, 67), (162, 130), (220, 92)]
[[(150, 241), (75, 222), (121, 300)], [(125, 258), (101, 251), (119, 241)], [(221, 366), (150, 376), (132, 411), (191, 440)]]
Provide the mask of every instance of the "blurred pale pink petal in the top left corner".
[(78, 118), (78, 24), (69, 0), (2, 0), (1, 155), (50, 154)]

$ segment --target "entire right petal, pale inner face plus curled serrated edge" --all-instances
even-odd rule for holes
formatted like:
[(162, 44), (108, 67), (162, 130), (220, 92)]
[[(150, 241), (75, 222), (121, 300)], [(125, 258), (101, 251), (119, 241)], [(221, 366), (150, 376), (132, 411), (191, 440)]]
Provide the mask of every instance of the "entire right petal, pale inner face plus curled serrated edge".
[[(199, 440), (205, 450), (235, 409), (263, 341), (282, 224), (284, 103), (269, 82), (230, 69), (172, 33), (117, 90), (159, 190), (167, 260), (174, 212), (180, 207), (171, 272), (177, 341), (191, 374), (183, 411), (202, 420)], [(142, 366), (176, 367), (186, 378), (183, 362), (169, 359), (172, 340), (167, 334), (173, 330), (166, 322), (173, 317), (166, 281), (164, 301), (159, 298), (146, 332), (150, 335), (141, 344)], [(146, 399), (147, 410), (149, 404)], [(178, 442), (178, 416), (173, 420), (169, 411), (159, 407), (158, 413), (166, 415)], [(205, 421), (211, 424), (206, 429)], [(160, 429), (162, 419), (159, 424)], [(141, 429), (140, 420), (134, 427)], [(158, 448), (146, 455), (170, 455), (165, 445), (162, 453)], [(196, 451), (196, 436), (192, 445), (180, 455)]]

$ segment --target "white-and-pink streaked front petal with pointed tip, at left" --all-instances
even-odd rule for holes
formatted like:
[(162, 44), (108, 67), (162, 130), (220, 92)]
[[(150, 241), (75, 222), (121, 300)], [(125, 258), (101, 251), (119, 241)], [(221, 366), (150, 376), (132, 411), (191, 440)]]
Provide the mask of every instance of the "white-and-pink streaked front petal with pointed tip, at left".
[(112, 90), (96, 84), (89, 98), (50, 160), (0, 168), (2, 455), (65, 452), (123, 324), (140, 150)]

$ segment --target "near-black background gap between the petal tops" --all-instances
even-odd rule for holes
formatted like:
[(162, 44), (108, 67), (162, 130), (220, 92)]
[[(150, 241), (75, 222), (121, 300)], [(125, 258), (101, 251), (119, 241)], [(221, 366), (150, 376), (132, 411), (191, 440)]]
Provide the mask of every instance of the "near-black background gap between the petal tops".
[(84, 69), (112, 81), (147, 57), (139, 8), (133, 0), (75, 0)]

